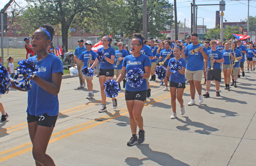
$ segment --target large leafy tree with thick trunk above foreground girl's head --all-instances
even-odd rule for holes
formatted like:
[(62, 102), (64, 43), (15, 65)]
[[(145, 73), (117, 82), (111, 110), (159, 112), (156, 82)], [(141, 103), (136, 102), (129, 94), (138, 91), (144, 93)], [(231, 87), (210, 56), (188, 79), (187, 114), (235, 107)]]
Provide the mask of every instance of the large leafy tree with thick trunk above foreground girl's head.
[[(95, 1), (89, 0), (26, 0), (28, 9), (23, 12), (19, 23), (23, 24), (25, 33), (32, 34), (41, 24), (61, 24), (62, 45), (68, 50), (68, 33), (70, 26), (83, 27), (84, 18), (89, 15)], [(86, 29), (88, 31), (88, 29)]]

